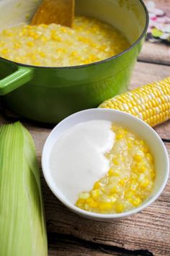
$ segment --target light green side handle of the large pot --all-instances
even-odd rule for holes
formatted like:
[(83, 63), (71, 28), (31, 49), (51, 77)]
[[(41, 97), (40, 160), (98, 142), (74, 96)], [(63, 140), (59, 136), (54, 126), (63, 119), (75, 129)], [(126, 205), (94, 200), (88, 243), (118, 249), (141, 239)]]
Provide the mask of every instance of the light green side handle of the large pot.
[(0, 95), (6, 95), (32, 80), (33, 70), (29, 67), (19, 67), (18, 70), (0, 80)]

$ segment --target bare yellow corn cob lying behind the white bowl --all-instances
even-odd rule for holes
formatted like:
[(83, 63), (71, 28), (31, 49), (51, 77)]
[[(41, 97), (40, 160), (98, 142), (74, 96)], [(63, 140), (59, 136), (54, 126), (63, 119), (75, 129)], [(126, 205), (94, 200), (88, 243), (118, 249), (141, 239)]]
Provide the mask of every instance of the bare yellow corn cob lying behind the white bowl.
[(112, 108), (138, 116), (151, 127), (170, 119), (170, 77), (122, 93), (99, 108)]

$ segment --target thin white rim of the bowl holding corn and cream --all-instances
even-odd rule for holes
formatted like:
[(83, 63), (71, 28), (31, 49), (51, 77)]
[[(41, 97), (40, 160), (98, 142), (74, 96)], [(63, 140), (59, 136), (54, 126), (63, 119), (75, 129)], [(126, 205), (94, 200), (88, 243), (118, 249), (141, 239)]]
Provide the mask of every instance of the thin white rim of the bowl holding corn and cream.
[[(56, 188), (56, 191), (55, 189), (53, 189), (53, 186), (50, 184), (50, 182), (48, 181), (48, 176), (46, 175), (46, 170), (45, 170), (45, 151), (46, 151), (46, 145), (48, 144), (48, 140), (50, 140), (50, 136), (55, 132), (55, 129), (58, 129), (59, 126), (62, 126), (63, 123), (65, 121), (68, 121), (68, 119), (71, 119), (73, 116), (76, 116), (76, 115), (79, 115), (79, 114), (83, 114), (83, 113), (86, 113), (86, 112), (89, 112), (89, 111), (96, 111), (96, 112), (99, 112), (99, 111), (103, 111), (103, 112), (111, 112), (111, 113), (118, 113), (118, 114), (122, 114), (122, 115), (125, 115), (125, 116), (128, 116), (128, 118), (130, 117), (130, 119), (135, 119), (136, 121), (138, 121), (140, 124), (143, 124), (144, 126), (146, 126), (146, 129), (150, 129), (151, 132), (153, 132), (154, 136), (156, 137), (156, 140), (159, 142), (159, 147), (161, 148), (161, 150), (164, 151), (164, 155), (165, 155), (165, 158), (166, 158), (166, 163), (165, 163), (165, 166), (166, 166), (166, 175), (164, 176), (164, 180), (161, 184), (161, 186), (158, 188), (158, 192), (155, 193), (155, 195), (153, 195), (148, 201), (144, 201), (142, 205), (136, 207), (136, 208), (133, 208), (132, 210), (128, 210), (127, 212), (123, 212), (123, 213), (92, 213), (92, 212), (89, 212), (89, 211), (86, 211), (86, 210), (82, 210), (81, 208), (78, 208), (76, 207), (75, 205), (73, 205), (71, 202), (69, 202), (66, 197), (64, 199), (64, 196), (61, 197), (60, 195), (57, 194), (57, 190), (60, 191), (60, 189), (57, 188), (57, 186), (55, 187)], [(168, 178), (169, 178), (169, 155), (167, 153), (167, 150), (166, 150), (166, 147), (164, 145), (164, 142), (161, 140), (161, 137), (159, 137), (159, 135), (156, 133), (156, 131), (150, 127), (145, 121), (139, 119), (138, 117), (136, 116), (133, 116), (132, 114), (128, 114), (124, 111), (118, 111), (118, 110), (113, 110), (113, 109), (107, 109), (107, 108), (89, 108), (89, 109), (86, 109), (86, 110), (83, 110), (83, 111), (79, 111), (79, 112), (76, 112), (74, 114), (72, 114), (71, 116), (68, 116), (66, 117), (66, 119), (63, 119), (63, 121), (59, 122), (53, 129), (52, 131), (50, 132), (50, 134), (48, 135), (48, 138), (46, 139), (45, 141), (45, 145), (43, 147), (43, 150), (42, 150), (42, 158), (41, 158), (41, 163), (42, 163), (42, 173), (45, 177), (45, 181), (47, 182), (48, 184), (48, 187), (50, 187), (50, 190), (53, 192), (53, 194), (58, 198), (58, 200), (60, 200), (63, 205), (66, 205), (67, 208), (71, 209), (74, 213), (77, 213), (81, 216), (86, 216), (86, 218), (97, 218), (97, 219), (115, 219), (115, 218), (124, 218), (124, 217), (128, 217), (128, 216), (131, 216), (135, 213), (138, 213), (140, 212), (141, 210), (143, 210), (144, 208), (148, 207), (149, 205), (151, 205), (151, 203), (153, 203), (158, 197), (159, 195), (161, 195), (161, 192), (164, 190), (164, 187), (166, 187), (166, 183), (168, 181)]]

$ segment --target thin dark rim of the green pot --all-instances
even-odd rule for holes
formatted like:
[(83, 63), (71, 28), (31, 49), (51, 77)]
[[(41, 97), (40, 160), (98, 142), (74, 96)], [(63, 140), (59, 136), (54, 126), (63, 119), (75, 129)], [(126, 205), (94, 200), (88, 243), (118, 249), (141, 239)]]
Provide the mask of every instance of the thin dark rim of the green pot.
[(95, 65), (98, 65), (98, 64), (103, 64), (107, 61), (111, 61), (112, 59), (117, 59), (120, 56), (126, 54), (128, 51), (131, 51), (132, 48), (134, 48), (136, 45), (138, 45), (138, 43), (140, 42), (140, 40), (143, 39), (143, 37), (146, 35), (146, 31), (148, 30), (149, 16), (148, 16), (148, 10), (146, 8), (146, 4), (144, 4), (143, 0), (138, 0), (138, 1), (140, 1), (140, 4), (143, 6), (143, 9), (145, 11), (146, 25), (145, 25), (145, 27), (143, 29), (143, 32), (141, 33), (140, 37), (137, 40), (135, 40), (135, 42), (130, 47), (125, 49), (125, 51), (122, 51), (120, 54), (117, 54), (115, 56), (111, 56), (107, 59), (103, 59), (102, 61), (96, 61), (96, 62), (92, 62), (92, 63), (89, 63), (89, 64), (76, 65), (76, 66), (70, 66), (70, 67), (68, 67), (68, 66), (66, 66), (66, 67), (55, 67), (55, 66), (54, 67), (50, 67), (50, 66), (49, 67), (44, 67), (44, 66), (36, 66), (36, 65), (30, 65), (30, 64), (22, 64), (22, 63), (19, 63), (17, 61), (11, 61), (9, 59), (4, 59), (1, 56), (0, 56), (0, 61), (4, 60), (4, 61), (9, 62), (9, 63), (17, 64), (18, 66), (21, 66), (21, 67), (62, 70), (62, 69), (81, 69), (81, 68), (85, 68), (85, 67), (95, 66)]

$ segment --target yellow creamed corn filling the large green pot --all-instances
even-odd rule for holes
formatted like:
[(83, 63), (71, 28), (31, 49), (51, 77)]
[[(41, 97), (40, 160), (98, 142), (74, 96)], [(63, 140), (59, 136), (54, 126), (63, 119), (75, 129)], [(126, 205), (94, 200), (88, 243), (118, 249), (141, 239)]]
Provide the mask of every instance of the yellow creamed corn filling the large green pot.
[(75, 17), (73, 28), (19, 25), (0, 33), (0, 56), (44, 67), (66, 67), (101, 61), (130, 44), (120, 31), (94, 18)]

